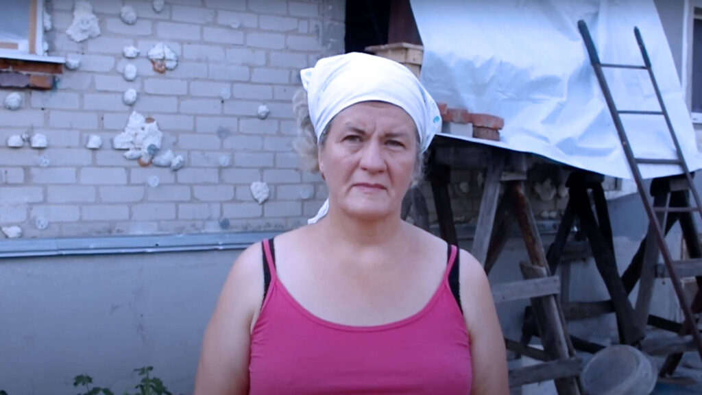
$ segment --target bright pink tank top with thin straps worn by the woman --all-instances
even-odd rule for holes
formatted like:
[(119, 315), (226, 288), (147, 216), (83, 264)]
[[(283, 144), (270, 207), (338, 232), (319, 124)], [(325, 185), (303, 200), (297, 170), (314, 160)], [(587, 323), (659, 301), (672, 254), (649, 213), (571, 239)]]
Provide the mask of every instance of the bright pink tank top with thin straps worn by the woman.
[(418, 313), (385, 325), (340, 325), (312, 315), (270, 268), (260, 316), (251, 333), (249, 394), (470, 394), (470, 342), (444, 279)]

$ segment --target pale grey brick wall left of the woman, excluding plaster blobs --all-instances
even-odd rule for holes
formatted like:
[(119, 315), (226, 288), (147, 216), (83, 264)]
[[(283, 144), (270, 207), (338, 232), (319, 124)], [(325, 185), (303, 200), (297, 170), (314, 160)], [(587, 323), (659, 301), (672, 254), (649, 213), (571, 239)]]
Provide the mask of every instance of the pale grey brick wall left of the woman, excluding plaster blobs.
[[(46, 2), (49, 55), (79, 58), (79, 69), (64, 69), (50, 91), (0, 89), (0, 101), (15, 91), (24, 99), (20, 110), (0, 107), (1, 226), (21, 226), (29, 238), (254, 231), (292, 228), (317, 211), (326, 191), (297, 169), (290, 100), (300, 68), (343, 52), (343, 0), (168, 0), (161, 13), (145, 0), (91, 4), (102, 34), (77, 43), (66, 34), (73, 0)], [(125, 4), (138, 14), (134, 25), (119, 18)], [(164, 74), (146, 57), (159, 41), (178, 56)], [(138, 58), (122, 55), (131, 45)], [(130, 63), (133, 82), (121, 75)], [(138, 92), (133, 106), (122, 103), (129, 88)], [(261, 104), (266, 119), (256, 116)], [(140, 167), (112, 149), (132, 110), (156, 119), (161, 149), (183, 155), (183, 169)], [(46, 135), (48, 148), (6, 146), (23, 133)], [(102, 137), (99, 150), (85, 148), (91, 134)], [(253, 181), (270, 187), (263, 205)]]

